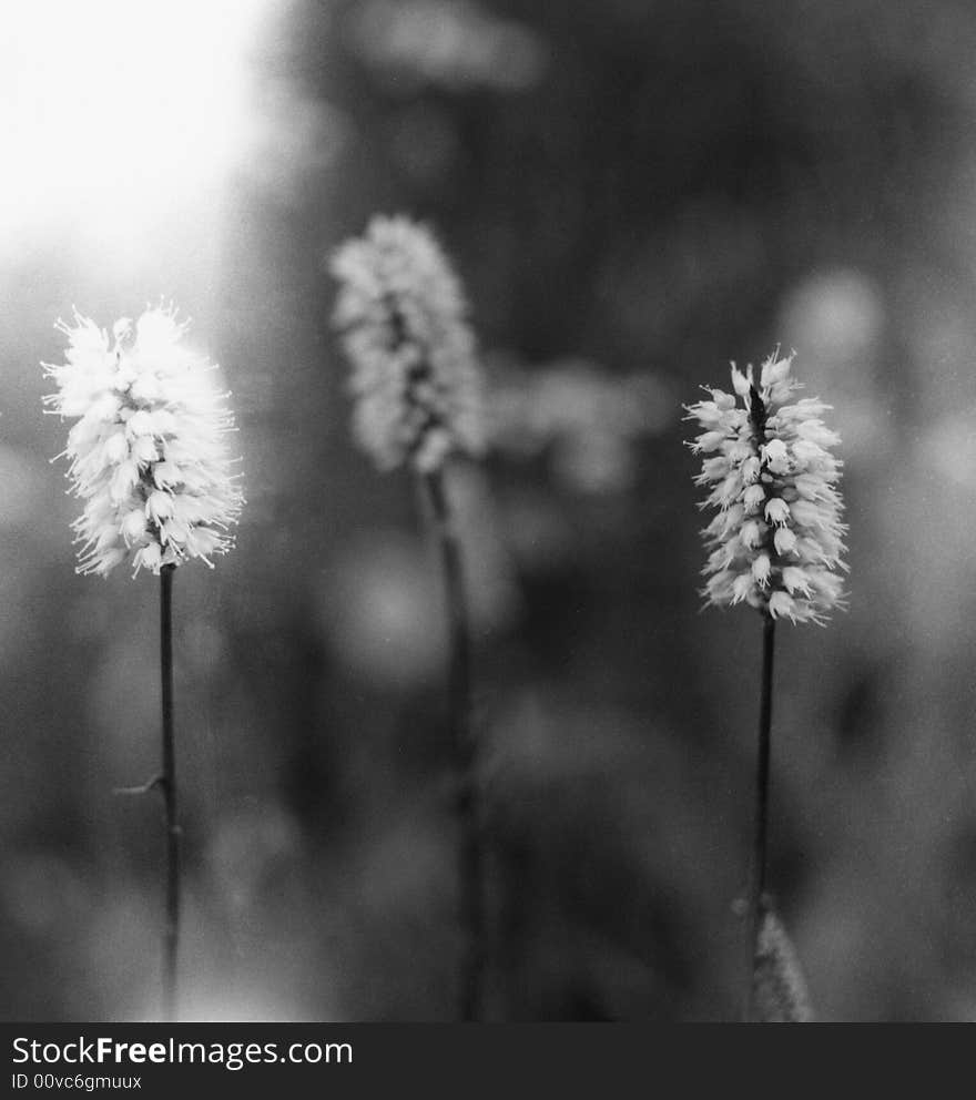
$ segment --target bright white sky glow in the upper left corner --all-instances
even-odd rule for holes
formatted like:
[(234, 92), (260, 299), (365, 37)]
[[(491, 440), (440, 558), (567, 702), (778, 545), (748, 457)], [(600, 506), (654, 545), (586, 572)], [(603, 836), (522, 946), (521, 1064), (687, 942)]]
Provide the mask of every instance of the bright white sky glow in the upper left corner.
[(271, 0), (30, 0), (0, 29), (0, 234), (136, 237), (218, 189)]

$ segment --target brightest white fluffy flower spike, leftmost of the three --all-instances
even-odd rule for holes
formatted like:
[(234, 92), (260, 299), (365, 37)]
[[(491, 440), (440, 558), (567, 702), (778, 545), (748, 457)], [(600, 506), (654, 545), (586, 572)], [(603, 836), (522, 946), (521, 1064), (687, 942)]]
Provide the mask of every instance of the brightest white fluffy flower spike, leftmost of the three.
[(134, 573), (191, 558), (211, 566), (233, 546), (243, 503), (216, 367), (181, 343), (186, 324), (173, 308), (123, 318), (111, 339), (77, 310), (55, 327), (68, 350), (64, 363), (43, 364), (58, 387), (44, 403), (74, 420), (63, 457), (84, 501), (73, 523), (78, 571), (104, 577), (130, 556)]

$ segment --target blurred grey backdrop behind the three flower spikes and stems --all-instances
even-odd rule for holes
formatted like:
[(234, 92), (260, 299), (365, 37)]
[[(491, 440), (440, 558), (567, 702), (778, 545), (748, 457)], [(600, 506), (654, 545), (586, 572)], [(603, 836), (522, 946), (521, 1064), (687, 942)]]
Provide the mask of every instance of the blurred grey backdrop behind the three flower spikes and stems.
[(700, 611), (681, 404), (781, 345), (835, 406), (852, 568), (779, 632), (772, 884), (822, 1018), (973, 1019), (972, 4), (38, 7), (0, 32), (0, 1015), (159, 1012), (162, 813), (112, 793), (156, 766), (156, 585), (74, 576), (38, 360), (72, 304), (164, 294), (248, 499), (175, 579), (185, 1016), (451, 1018), (437, 557), (352, 446), (325, 271), (404, 211), (495, 395), (450, 471), (489, 1018), (738, 1011), (761, 631)]

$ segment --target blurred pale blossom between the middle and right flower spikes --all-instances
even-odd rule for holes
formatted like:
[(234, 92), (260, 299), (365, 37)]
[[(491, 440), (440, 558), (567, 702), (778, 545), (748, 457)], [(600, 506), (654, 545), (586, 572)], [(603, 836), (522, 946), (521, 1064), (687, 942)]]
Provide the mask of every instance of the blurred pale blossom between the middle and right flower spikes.
[(569, 489), (626, 489), (637, 471), (637, 445), (668, 419), (664, 387), (650, 375), (612, 377), (570, 360), (537, 371), (507, 370), (490, 397), (494, 448), (516, 457), (548, 452)]

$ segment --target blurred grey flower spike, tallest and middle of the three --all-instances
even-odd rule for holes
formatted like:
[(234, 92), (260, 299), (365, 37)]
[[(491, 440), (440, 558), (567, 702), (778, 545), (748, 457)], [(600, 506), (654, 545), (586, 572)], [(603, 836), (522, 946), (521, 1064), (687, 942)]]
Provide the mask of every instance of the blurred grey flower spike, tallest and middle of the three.
[(480, 370), (467, 303), (430, 232), (374, 217), (332, 257), (333, 322), (353, 364), (354, 430), (376, 465), (438, 469), (484, 447)]

